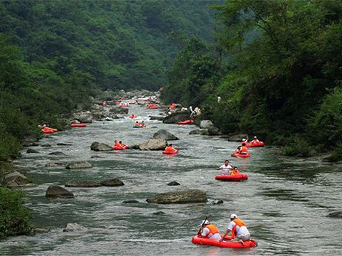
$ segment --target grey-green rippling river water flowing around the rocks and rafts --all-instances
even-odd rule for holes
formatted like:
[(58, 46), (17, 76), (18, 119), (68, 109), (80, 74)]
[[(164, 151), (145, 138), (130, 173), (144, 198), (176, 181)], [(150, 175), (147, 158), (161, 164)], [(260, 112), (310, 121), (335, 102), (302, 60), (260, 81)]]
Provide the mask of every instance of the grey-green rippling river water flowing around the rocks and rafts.
[[(27, 188), (26, 206), (33, 210), (37, 227), (51, 232), (8, 238), (0, 242), (0, 255), (342, 255), (339, 230), (341, 219), (327, 218), (341, 210), (341, 166), (321, 161), (286, 158), (266, 146), (250, 149), (249, 159), (230, 157), (237, 142), (221, 137), (190, 135), (197, 127), (163, 124), (148, 120), (160, 110), (130, 107), (130, 113), (145, 119), (147, 129), (133, 129), (133, 121), (115, 119), (93, 122), (86, 128), (73, 128), (46, 136), (39, 142), (39, 154), (26, 154), (16, 161), (28, 167), (28, 177), (37, 186)], [(176, 156), (161, 151), (90, 151), (98, 141), (113, 144), (114, 139), (138, 144), (159, 129), (177, 137)], [(57, 143), (72, 144), (58, 146)], [(63, 151), (66, 156), (49, 155)], [(97, 158), (92, 156), (99, 156)], [(249, 176), (245, 182), (222, 182), (214, 167), (230, 159), (232, 166)], [(91, 169), (46, 168), (51, 161), (68, 163), (86, 160)], [(48, 200), (49, 185), (63, 186), (73, 178), (99, 181), (118, 177), (125, 186), (68, 188), (76, 198)], [(177, 181), (180, 186), (167, 186)], [(157, 205), (146, 198), (167, 191), (198, 188), (207, 192), (208, 203)], [(139, 203), (123, 203), (135, 199)], [(222, 199), (223, 204), (212, 201)], [(165, 215), (154, 215), (157, 211)], [(223, 233), (229, 215), (237, 213), (247, 224), (259, 247), (231, 248), (193, 245), (205, 215)], [(85, 233), (63, 233), (63, 225), (78, 223)]]

